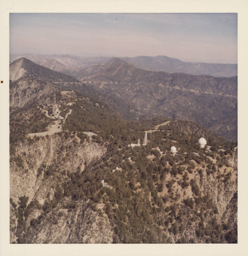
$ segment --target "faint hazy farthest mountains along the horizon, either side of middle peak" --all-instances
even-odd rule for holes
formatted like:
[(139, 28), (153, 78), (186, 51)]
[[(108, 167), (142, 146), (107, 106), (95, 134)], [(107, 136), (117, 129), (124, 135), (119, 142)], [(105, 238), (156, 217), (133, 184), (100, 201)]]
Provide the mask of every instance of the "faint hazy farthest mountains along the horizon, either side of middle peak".
[[(11, 54), (10, 61), (26, 57), (35, 63), (65, 74), (73, 75), (90, 65), (104, 64), (112, 57), (79, 57), (74, 55), (41, 55), (41, 54)], [(167, 73), (185, 73), (192, 75), (211, 75), (215, 77), (232, 77), (237, 75), (237, 64), (184, 62), (167, 56), (137, 56), (121, 57), (137, 68), (164, 71)], [(55, 65), (56, 61), (56, 65)], [(59, 62), (59, 63), (57, 63)], [(63, 66), (61, 66), (63, 65)]]

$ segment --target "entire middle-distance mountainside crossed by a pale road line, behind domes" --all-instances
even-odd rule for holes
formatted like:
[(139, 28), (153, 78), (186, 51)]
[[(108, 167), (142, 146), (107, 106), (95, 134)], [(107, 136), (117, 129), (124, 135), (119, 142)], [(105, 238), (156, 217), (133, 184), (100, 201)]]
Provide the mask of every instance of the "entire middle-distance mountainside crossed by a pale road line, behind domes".
[(195, 121), (237, 140), (237, 77), (168, 74), (113, 58), (76, 75), (94, 89), (131, 101), (148, 113)]

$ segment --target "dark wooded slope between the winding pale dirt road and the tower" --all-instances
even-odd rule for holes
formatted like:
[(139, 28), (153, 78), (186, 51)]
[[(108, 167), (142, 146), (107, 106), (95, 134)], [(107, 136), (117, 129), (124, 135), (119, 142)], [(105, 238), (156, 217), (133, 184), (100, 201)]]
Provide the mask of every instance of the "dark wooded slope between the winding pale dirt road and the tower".
[(72, 113), (63, 125), (64, 130), (93, 132), (98, 135), (98, 141), (119, 145), (136, 141), (139, 136), (140, 132), (130, 129), (130, 123), (102, 101), (79, 97), (70, 109)]

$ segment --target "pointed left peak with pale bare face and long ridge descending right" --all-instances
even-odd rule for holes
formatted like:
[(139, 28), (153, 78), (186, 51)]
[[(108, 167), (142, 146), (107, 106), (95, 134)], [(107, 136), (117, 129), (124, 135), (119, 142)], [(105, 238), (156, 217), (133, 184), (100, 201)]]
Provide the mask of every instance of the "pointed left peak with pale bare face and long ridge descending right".
[(146, 111), (138, 108), (132, 102), (116, 99), (111, 95), (103, 95), (71, 75), (37, 65), (24, 57), (10, 63), (10, 91), (12, 95), (10, 97), (10, 107), (12, 110), (22, 108), (34, 101), (42, 102), (44, 97), (53, 95), (56, 87), (77, 90), (89, 97), (101, 99), (128, 119), (147, 116)]

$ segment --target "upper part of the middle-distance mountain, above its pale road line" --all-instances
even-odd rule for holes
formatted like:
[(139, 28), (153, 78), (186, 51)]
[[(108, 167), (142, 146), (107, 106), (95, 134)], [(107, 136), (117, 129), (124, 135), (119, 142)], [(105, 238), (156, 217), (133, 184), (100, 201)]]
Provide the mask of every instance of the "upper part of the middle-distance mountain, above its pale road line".
[(207, 75), (195, 76), (184, 73), (148, 71), (137, 68), (121, 58), (112, 58), (104, 65), (92, 65), (75, 74), (75, 77), (84, 78), (83, 80), (96, 80), (99, 76), (113, 82), (163, 83), (165, 87), (237, 97), (237, 77), (235, 76), (218, 78)]

